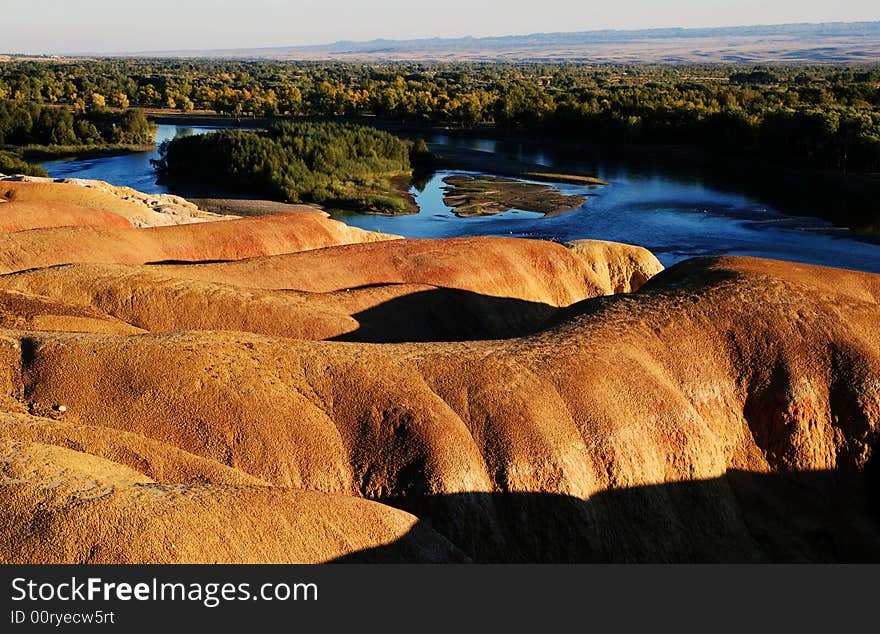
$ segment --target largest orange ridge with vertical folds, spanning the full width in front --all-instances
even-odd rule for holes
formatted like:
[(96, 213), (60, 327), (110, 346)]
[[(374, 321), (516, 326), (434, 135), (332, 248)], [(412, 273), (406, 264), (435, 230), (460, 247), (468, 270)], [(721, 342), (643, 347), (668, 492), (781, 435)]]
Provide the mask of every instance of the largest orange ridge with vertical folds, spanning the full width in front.
[[(725, 481), (698, 496), (711, 512), (693, 522), (693, 496), (663, 486), (733, 470), (858, 482), (880, 420), (877, 298), (869, 274), (719, 258), (497, 342), (10, 333), (3, 392), (10, 409), (138, 434), (275, 486), (410, 508), (477, 558), (759, 560), (773, 557), (769, 533), (797, 538), (789, 557), (822, 559), (839, 537), (831, 508), (810, 518), (824, 537), (802, 543), (785, 500), (762, 502), (785, 509), (779, 525), (752, 525)], [(641, 487), (662, 539), (614, 504), (579, 512), (564, 540), (537, 520), (523, 535), (492, 497), (568, 504)]]

